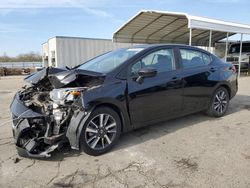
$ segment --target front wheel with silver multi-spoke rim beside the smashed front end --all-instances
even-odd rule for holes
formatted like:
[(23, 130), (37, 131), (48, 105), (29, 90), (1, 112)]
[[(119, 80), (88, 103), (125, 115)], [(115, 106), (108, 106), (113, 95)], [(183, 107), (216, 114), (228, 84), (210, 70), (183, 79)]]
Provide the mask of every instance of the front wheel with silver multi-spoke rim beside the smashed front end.
[(89, 155), (101, 155), (112, 149), (121, 134), (121, 119), (109, 107), (96, 108), (85, 122), (80, 147)]

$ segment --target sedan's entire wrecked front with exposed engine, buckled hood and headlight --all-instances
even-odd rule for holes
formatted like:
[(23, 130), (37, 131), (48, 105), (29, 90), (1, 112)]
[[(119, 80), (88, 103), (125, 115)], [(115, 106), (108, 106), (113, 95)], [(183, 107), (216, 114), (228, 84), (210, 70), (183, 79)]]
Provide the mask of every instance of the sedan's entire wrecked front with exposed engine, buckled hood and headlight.
[(84, 112), (83, 92), (102, 79), (46, 68), (26, 81), (31, 85), (23, 87), (11, 104), (16, 146), (22, 156), (49, 157), (68, 141), (66, 133), (72, 117)]

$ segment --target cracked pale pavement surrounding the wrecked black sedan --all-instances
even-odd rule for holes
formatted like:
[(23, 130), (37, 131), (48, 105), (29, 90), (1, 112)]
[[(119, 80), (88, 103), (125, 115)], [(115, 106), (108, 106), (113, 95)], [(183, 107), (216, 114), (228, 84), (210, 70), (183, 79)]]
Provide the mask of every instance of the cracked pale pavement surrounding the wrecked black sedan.
[(222, 118), (198, 113), (127, 133), (102, 156), (66, 147), (43, 160), (13, 144), (9, 104), (22, 78), (0, 79), (0, 187), (250, 187), (250, 77)]

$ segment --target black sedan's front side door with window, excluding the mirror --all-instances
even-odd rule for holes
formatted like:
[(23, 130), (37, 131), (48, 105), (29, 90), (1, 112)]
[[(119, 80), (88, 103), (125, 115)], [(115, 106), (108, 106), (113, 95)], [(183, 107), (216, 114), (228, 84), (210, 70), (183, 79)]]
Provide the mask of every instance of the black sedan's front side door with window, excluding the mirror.
[[(145, 67), (157, 69), (157, 75), (136, 81)], [(132, 123), (137, 127), (177, 115), (182, 107), (182, 77), (173, 48), (158, 49), (141, 57), (130, 67), (128, 101)]]

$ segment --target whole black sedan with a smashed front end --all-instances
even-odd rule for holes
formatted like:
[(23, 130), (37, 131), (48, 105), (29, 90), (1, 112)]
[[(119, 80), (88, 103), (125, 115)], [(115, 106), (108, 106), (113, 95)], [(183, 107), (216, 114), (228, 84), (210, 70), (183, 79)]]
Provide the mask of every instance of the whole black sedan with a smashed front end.
[(25, 80), (10, 108), (18, 153), (31, 157), (65, 142), (100, 155), (139, 127), (199, 111), (221, 117), (238, 89), (231, 63), (185, 45), (119, 49)]

